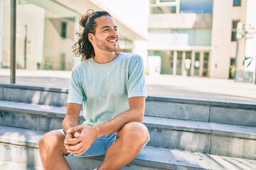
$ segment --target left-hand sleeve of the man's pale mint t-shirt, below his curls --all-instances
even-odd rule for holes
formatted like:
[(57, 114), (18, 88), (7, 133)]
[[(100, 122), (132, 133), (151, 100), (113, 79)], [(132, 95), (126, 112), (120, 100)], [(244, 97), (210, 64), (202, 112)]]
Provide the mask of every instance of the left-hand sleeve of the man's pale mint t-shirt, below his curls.
[(70, 86), (68, 88), (68, 103), (82, 104), (84, 95), (78, 72), (73, 69), (70, 77)]

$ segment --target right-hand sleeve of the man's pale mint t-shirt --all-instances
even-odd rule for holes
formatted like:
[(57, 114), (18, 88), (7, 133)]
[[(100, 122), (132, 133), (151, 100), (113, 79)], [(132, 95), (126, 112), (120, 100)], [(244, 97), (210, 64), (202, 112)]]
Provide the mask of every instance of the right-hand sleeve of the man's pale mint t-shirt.
[(146, 97), (146, 85), (142, 57), (135, 55), (131, 58), (127, 83), (128, 98), (136, 96)]

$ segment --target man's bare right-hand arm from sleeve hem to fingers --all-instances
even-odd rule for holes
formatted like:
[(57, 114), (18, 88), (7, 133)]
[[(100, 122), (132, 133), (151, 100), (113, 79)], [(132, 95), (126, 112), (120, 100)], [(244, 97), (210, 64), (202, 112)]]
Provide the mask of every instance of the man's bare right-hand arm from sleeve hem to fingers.
[(129, 98), (129, 110), (117, 115), (112, 120), (95, 126), (78, 125), (68, 130), (68, 134), (81, 132), (79, 137), (66, 139), (65, 146), (68, 152), (75, 156), (84, 153), (97, 140), (98, 137), (110, 135), (121, 130), (124, 125), (130, 122), (141, 122), (144, 117), (145, 97)]

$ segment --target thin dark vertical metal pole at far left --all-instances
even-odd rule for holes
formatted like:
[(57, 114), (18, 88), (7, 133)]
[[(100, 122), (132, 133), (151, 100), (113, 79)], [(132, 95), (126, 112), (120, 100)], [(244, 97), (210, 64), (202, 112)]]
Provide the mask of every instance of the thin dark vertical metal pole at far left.
[(16, 0), (11, 0), (11, 84), (16, 83)]

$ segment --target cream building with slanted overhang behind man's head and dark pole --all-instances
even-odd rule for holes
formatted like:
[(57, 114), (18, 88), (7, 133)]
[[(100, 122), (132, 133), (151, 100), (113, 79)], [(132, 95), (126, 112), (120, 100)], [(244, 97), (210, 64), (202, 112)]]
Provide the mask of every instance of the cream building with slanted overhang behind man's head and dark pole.
[[(107, 3), (106, 3), (107, 2)], [(18, 69), (70, 70), (80, 62), (73, 57), (72, 45), (77, 40), (80, 16), (88, 9), (109, 11), (118, 26), (119, 47), (126, 52), (137, 52), (146, 61), (146, 35), (149, 8), (145, 11), (133, 7), (136, 1), (127, 2), (125, 10), (118, 1), (92, 0), (18, 0), (16, 7), (16, 67)], [(129, 2), (129, 3), (128, 3)], [(139, 2), (149, 6), (148, 0)], [(115, 5), (115, 6), (113, 6)], [(112, 10), (119, 8), (119, 11)], [(133, 26), (132, 21), (144, 21)], [(143, 15), (136, 13), (142, 11)], [(122, 12), (122, 13), (121, 13)], [(0, 0), (0, 68), (10, 67), (11, 1)], [(130, 22), (130, 23), (129, 23)], [(143, 26), (142, 26), (143, 25)]]

